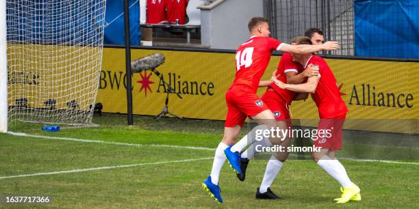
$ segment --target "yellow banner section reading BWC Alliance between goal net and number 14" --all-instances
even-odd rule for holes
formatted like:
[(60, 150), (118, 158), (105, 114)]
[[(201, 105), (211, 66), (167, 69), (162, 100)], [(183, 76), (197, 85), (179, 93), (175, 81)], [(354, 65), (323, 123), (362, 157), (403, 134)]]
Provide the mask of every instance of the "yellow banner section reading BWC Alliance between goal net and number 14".
[[(163, 53), (165, 64), (157, 68), (176, 94), (169, 95), (169, 111), (182, 117), (224, 120), (227, 107), (225, 92), (234, 77), (234, 55), (184, 51), (131, 50), (138, 59)], [(125, 92), (125, 51), (105, 48), (97, 102), (103, 111), (127, 113)], [(157, 115), (164, 108), (167, 87), (150, 70), (132, 76), (133, 111), (139, 115)]]

